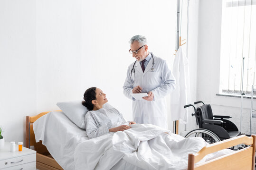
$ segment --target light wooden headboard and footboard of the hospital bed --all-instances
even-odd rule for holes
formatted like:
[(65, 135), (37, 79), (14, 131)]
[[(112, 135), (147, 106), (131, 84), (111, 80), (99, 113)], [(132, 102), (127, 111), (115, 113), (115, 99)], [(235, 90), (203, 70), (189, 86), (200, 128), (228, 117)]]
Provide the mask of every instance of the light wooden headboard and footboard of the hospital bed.
[[(55, 161), (50, 155), (46, 146), (42, 144), (42, 141), (36, 143), (35, 140), (33, 123), (38, 118), (49, 112), (50, 111), (42, 112), (34, 117), (26, 117), (26, 147), (35, 147), (35, 151), (37, 151), (38, 170), (63, 170), (57, 161)], [(206, 161), (199, 165), (195, 165), (195, 163), (199, 162), (205, 155), (230, 148), (237, 144), (247, 144), (250, 146), (216, 159)], [(250, 137), (242, 135), (210, 144), (203, 147), (198, 153), (189, 154), (188, 170), (254, 170), (255, 149), (256, 135), (252, 135)]]

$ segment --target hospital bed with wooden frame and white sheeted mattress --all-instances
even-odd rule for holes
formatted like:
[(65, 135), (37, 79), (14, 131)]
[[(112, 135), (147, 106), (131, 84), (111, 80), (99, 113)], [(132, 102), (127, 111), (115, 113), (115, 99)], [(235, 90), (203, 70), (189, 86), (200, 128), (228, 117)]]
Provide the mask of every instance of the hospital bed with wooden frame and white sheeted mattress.
[[(48, 119), (42, 120), (42, 122), (45, 122), (42, 124), (41, 128), (51, 129), (49, 134), (51, 137), (44, 137), (44, 132), (41, 131), (39, 132), (41, 134), (38, 136), (41, 136), (39, 138), (43, 142), (40, 141), (37, 143), (35, 140), (33, 123), (39, 118), (46, 118), (46, 116), (48, 116)], [(85, 130), (77, 127), (61, 111), (54, 111), (50, 113), (43, 112), (34, 117), (26, 117), (26, 146), (28, 148), (33, 146), (37, 151), (38, 170), (71, 169), (71, 167), (74, 167), (74, 151), (76, 145), (85, 140), (88, 140)], [(44, 144), (47, 145), (47, 148)], [(250, 145), (250, 147), (195, 165), (195, 163), (199, 162), (206, 154), (229, 148), (231, 145), (233, 146), (237, 144), (247, 144)], [(236, 167), (236, 169), (237, 167), (240, 167), (240, 169), (253, 170), (255, 162), (255, 147), (255, 136), (238, 136), (210, 144), (209, 146), (202, 148), (199, 153), (188, 155), (188, 169), (202, 170), (207, 167), (207, 169), (233, 170), (234, 167)], [(221, 165), (221, 167), (218, 167), (219, 165)], [(119, 161), (112, 169), (123, 169), (123, 167), (126, 167), (126, 169), (141, 170), (140, 168), (123, 160)]]

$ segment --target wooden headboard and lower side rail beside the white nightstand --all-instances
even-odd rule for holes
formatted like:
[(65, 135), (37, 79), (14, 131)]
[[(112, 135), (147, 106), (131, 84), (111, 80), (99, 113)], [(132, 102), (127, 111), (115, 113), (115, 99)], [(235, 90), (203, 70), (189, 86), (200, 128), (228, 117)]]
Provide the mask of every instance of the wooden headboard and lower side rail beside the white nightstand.
[[(61, 111), (61, 110), (58, 110)], [(35, 151), (37, 151), (37, 169), (38, 170), (63, 170), (61, 166), (53, 159), (53, 157), (48, 152), (45, 145), (42, 144), (42, 141), (36, 143), (35, 134), (33, 131), (33, 123), (44, 116), (45, 114), (49, 113), (42, 112), (36, 116), (29, 117), (26, 116), (26, 147), (30, 148), (30, 146), (35, 147)]]

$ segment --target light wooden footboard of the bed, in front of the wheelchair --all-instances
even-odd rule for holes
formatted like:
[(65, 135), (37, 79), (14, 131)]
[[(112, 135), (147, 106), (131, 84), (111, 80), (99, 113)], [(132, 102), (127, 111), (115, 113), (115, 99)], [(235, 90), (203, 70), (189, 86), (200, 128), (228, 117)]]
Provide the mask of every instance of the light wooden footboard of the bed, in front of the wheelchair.
[[(237, 144), (247, 144), (250, 146), (199, 165), (194, 165), (209, 153), (215, 153)], [(256, 135), (250, 137), (241, 135), (210, 144), (203, 147), (198, 153), (189, 154), (188, 170), (254, 170), (255, 146)]]

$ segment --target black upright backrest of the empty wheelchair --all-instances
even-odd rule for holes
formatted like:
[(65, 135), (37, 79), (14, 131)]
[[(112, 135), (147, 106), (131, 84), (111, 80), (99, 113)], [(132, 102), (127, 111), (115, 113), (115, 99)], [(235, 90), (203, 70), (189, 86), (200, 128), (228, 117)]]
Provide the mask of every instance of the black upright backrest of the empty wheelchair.
[(198, 119), (199, 128), (202, 128), (203, 120), (213, 119), (211, 105), (205, 104), (199, 106), (196, 110), (196, 115), (196, 118)]

